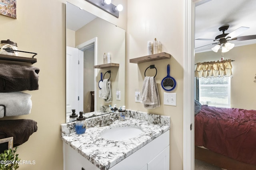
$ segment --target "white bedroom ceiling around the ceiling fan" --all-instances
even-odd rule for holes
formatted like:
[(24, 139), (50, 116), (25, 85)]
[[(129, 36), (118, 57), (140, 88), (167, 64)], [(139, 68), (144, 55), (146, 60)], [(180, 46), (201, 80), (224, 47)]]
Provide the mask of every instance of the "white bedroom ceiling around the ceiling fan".
[[(222, 34), (219, 27), (230, 25), (225, 33), (239, 27), (250, 27), (240, 36), (256, 35), (256, 0), (202, 0), (206, 2), (196, 6), (195, 39), (215, 39)], [(212, 46), (201, 47), (213, 41), (195, 40), (195, 52), (211, 51)], [(235, 47), (256, 43), (256, 40), (232, 41)], [(200, 47), (200, 48), (197, 48)]]

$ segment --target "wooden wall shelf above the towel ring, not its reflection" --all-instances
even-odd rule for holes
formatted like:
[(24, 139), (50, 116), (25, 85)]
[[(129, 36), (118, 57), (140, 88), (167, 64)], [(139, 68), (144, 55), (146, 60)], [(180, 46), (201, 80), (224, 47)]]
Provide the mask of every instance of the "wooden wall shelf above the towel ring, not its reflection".
[(148, 61), (156, 61), (156, 60), (170, 59), (170, 58), (171, 58), (170, 54), (163, 52), (158, 54), (147, 55), (144, 57), (138, 57), (135, 59), (130, 59), (130, 63), (139, 64), (139, 63), (145, 63)]

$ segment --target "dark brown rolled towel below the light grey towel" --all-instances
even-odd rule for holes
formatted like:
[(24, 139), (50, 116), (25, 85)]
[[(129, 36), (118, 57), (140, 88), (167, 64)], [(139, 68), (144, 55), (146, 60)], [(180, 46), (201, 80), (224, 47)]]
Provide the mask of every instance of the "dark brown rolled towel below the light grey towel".
[(0, 120), (0, 132), (13, 137), (13, 147), (28, 141), (32, 133), (37, 131), (37, 122), (30, 119)]

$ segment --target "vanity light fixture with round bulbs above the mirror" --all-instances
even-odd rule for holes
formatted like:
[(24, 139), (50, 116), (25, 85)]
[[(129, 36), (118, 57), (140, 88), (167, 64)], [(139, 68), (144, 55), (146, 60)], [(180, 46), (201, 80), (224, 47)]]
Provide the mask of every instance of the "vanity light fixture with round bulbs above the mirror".
[(119, 18), (119, 12), (123, 10), (122, 5), (115, 6), (111, 4), (111, 0), (86, 0), (98, 8), (108, 12), (109, 14)]

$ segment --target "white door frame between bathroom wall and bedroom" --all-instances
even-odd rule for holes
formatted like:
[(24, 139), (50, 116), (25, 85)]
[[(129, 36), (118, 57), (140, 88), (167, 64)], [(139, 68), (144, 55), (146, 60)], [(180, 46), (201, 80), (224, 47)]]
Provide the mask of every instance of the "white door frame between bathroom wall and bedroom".
[(196, 6), (211, 0), (184, 0), (183, 170), (194, 170), (194, 39)]

